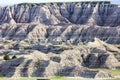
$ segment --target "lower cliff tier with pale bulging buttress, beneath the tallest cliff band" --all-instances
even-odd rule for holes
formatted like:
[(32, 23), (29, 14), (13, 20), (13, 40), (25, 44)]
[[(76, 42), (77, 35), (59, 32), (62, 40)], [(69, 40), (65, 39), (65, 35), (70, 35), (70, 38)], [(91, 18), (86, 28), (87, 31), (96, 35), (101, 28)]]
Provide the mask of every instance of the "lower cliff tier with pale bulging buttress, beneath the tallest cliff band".
[(47, 40), (77, 44), (92, 41), (95, 37), (109, 42), (120, 43), (120, 27), (100, 27), (87, 25), (15, 24), (0, 25), (0, 37), (13, 40)]

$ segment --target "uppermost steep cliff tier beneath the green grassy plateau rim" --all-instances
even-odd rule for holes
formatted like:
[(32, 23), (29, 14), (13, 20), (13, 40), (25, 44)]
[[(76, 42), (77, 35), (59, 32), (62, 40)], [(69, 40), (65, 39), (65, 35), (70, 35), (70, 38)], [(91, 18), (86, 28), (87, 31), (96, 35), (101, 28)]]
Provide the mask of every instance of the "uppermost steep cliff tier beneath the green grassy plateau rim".
[(0, 8), (0, 23), (90, 23), (99, 26), (118, 26), (119, 13), (120, 7), (113, 4), (63, 3), (39, 6), (21, 4)]

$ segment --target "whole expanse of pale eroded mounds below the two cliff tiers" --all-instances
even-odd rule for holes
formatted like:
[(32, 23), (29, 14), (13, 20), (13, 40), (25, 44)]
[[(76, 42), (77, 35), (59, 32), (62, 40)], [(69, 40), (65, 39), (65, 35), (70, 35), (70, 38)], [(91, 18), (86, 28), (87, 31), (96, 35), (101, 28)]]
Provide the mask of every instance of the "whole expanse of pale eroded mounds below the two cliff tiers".
[[(38, 43), (24, 46), (25, 50), (17, 50), (22, 45), (16, 46), (16, 44), (21, 44), (21, 42), (13, 43), (7, 49), (5, 46), (10, 43), (1, 45), (1, 47), (3, 46), (1, 54), (17, 56), (15, 59), (0, 60), (0, 74), (3, 76), (112, 78), (114, 76), (108, 73), (89, 68), (120, 67), (120, 49), (99, 39), (78, 46)], [(6, 50), (8, 51), (6, 52)]]

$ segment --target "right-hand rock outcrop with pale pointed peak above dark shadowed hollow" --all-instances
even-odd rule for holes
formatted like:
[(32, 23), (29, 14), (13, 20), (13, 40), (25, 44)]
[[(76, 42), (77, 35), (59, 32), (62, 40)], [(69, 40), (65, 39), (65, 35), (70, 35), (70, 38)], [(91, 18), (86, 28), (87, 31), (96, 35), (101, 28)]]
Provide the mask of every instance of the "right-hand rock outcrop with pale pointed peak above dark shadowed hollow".
[(95, 38), (94, 42), (87, 43), (87, 47), (91, 48), (91, 53), (86, 56), (84, 65), (92, 68), (115, 68), (120, 66), (120, 57), (117, 57), (117, 55), (120, 55), (120, 49), (114, 45)]

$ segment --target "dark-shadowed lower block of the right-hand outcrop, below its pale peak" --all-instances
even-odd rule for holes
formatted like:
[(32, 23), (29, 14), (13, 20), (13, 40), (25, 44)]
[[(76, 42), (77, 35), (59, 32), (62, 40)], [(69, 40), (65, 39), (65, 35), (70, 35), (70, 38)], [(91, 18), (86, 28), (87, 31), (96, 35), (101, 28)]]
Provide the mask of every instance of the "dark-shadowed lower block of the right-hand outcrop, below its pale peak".
[(89, 54), (84, 61), (85, 66), (89, 68), (116, 68), (120, 62), (112, 53), (93, 53)]

